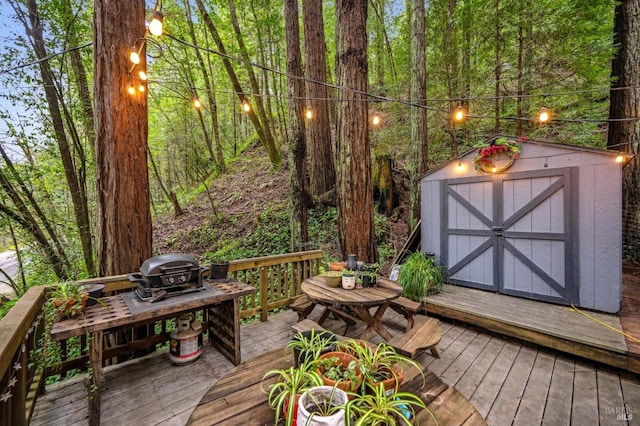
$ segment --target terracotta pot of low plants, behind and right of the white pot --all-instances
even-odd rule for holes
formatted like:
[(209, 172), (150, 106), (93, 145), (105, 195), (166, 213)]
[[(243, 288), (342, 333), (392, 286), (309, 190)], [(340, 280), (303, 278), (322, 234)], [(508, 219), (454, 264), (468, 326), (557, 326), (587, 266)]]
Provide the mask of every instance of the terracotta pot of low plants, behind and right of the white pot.
[(358, 359), (346, 352), (327, 352), (316, 360), (318, 374), (327, 386), (354, 392), (362, 383)]

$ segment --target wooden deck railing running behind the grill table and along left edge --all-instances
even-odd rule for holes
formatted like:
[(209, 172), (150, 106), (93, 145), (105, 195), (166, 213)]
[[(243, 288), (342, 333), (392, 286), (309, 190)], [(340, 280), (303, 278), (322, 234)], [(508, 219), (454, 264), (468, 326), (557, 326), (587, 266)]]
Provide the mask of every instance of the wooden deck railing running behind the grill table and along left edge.
[[(300, 284), (319, 273), (320, 250), (266, 256), (229, 262), (229, 273), (256, 288), (254, 295), (240, 300), (242, 318), (267, 321), (269, 312), (285, 308), (300, 295)], [(103, 295), (130, 291), (135, 284), (126, 275), (95, 278), (81, 283), (105, 285)], [(31, 419), (38, 395), (47, 377), (65, 376), (74, 368), (85, 369), (87, 339), (60, 342), (61, 360), (55, 367), (43, 368), (35, 359), (46, 341), (43, 304), (45, 287), (32, 287), (0, 320), (0, 426), (26, 425)], [(206, 312), (194, 312), (206, 321)], [(115, 364), (152, 352), (169, 340), (172, 320), (157, 321), (145, 330), (125, 329), (105, 336), (105, 363)], [(206, 330), (206, 327), (205, 327)], [(46, 343), (52, 344), (51, 342)]]

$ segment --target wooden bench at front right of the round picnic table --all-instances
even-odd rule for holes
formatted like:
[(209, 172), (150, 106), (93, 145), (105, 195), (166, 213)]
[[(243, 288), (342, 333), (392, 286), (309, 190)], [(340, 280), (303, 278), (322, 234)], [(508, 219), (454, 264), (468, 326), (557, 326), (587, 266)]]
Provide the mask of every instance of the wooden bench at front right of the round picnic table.
[(436, 345), (440, 343), (441, 338), (440, 321), (435, 318), (418, 315), (411, 330), (393, 337), (387, 343), (396, 348), (398, 353), (412, 359), (415, 359), (427, 349), (431, 351), (431, 355), (435, 358), (440, 358)]

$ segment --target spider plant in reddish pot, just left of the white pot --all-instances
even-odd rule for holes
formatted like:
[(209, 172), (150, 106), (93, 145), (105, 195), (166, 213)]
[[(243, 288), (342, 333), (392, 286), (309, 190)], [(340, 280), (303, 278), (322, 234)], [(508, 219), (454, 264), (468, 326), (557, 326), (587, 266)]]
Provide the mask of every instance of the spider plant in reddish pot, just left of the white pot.
[[(276, 378), (276, 382), (269, 386), (267, 400), (269, 406), (275, 410), (274, 424), (278, 424), (282, 414), (286, 425), (294, 425), (296, 424), (300, 395), (309, 388), (321, 386), (322, 378), (311, 368), (309, 363), (303, 364), (300, 368), (289, 367), (285, 370), (270, 370), (265, 373), (262, 381), (273, 377)], [(290, 402), (292, 398), (293, 404)]]

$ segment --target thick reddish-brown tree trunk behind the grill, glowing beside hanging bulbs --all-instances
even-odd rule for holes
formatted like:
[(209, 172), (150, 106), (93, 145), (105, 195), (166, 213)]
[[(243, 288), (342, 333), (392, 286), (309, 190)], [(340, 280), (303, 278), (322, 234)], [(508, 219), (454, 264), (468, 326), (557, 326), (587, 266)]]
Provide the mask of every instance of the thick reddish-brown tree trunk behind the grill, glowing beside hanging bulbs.
[[(147, 92), (127, 93), (127, 52), (144, 37), (145, 2), (95, 0), (93, 18), (99, 259), (108, 276), (138, 270), (153, 253)], [(143, 49), (137, 67), (145, 56)]]

